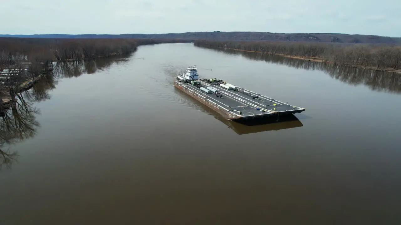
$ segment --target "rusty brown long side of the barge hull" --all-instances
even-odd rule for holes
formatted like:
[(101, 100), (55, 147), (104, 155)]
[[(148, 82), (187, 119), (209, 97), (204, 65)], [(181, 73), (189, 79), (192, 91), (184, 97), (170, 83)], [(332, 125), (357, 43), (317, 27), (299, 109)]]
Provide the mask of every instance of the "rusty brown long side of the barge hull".
[(215, 102), (212, 102), (211, 100), (207, 99), (206, 97), (202, 96), (201, 94), (198, 94), (197, 92), (195, 92), (193, 90), (190, 90), (190, 88), (187, 88), (185, 85), (183, 85), (180, 82), (175, 81), (174, 82), (174, 87), (182, 90), (186, 94), (192, 96), (192, 98), (195, 98), (199, 102), (201, 102), (201, 103), (205, 104), (206, 106), (208, 106), (209, 108), (215, 110), (217, 113), (219, 113), (220, 115), (222, 115), (226, 119), (237, 120), (237, 119), (241, 118), (238, 115), (235, 115), (234, 113), (230, 112), (229, 110), (227, 110), (223, 106), (220, 106), (219, 104), (217, 104)]

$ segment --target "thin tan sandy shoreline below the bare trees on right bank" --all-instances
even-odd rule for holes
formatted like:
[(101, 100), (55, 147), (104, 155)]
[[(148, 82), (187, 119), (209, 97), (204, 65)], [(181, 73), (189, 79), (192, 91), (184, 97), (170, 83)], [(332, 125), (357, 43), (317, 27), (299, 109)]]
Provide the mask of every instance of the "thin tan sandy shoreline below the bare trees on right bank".
[[(213, 47), (209, 47), (207, 45), (204, 45), (204, 47), (213, 48)], [(266, 52), (242, 50), (242, 49), (237, 49), (237, 48), (217, 48), (217, 49), (230, 49), (230, 50), (236, 50), (236, 51), (242, 51), (242, 52), (255, 52), (255, 53), (261, 53), (261, 54), (271, 54), (271, 53), (266, 53)], [(283, 56), (283, 57), (287, 57), (287, 58), (294, 58), (294, 59), (301, 59), (301, 60), (308, 60), (308, 61), (313, 61), (313, 62), (321, 62), (321, 63), (333, 64), (333, 62), (326, 61), (323, 58), (304, 57), (304, 56), (290, 56), (290, 55), (278, 54), (278, 53), (273, 53), (271, 55), (277, 55), (277, 56)], [(374, 71), (380, 71), (380, 72), (392, 72), (392, 73), (401, 74), (401, 69), (398, 69), (398, 70), (397, 69), (393, 69), (393, 68), (376, 69), (376, 68), (374, 68), (372, 66), (351, 66), (351, 65), (347, 65), (347, 64), (342, 64), (342, 66), (349, 66), (349, 67), (361, 68), (361, 69), (365, 69), (365, 70), (374, 70)]]

